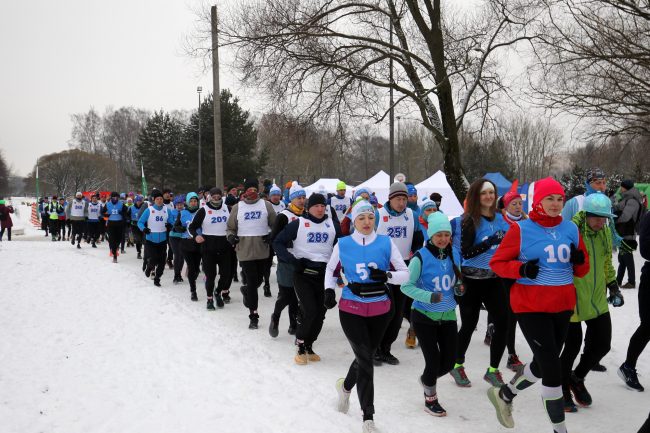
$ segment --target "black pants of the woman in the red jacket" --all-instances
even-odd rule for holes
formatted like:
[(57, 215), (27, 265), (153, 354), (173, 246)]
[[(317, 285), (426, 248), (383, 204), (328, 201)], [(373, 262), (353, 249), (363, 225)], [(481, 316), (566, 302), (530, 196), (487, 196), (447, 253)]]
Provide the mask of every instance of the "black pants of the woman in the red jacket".
[(544, 386), (562, 385), (560, 351), (566, 340), (572, 314), (573, 311), (517, 314), (521, 332), (533, 351), (530, 370), (535, 377), (542, 378)]

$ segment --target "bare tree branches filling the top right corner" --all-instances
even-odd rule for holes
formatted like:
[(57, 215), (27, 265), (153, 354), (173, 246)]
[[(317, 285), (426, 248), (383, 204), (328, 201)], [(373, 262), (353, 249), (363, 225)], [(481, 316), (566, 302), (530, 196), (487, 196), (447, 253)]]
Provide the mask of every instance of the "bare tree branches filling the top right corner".
[(650, 134), (650, 3), (546, 3), (530, 67), (537, 102), (585, 119), (591, 138)]

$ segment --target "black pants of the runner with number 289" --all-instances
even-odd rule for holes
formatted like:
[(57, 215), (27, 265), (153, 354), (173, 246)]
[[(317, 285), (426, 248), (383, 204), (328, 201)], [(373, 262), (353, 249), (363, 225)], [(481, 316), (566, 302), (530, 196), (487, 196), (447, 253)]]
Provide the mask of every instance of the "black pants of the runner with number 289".
[(300, 308), (296, 338), (306, 346), (314, 344), (325, 321), (325, 278), (294, 273), (293, 284)]

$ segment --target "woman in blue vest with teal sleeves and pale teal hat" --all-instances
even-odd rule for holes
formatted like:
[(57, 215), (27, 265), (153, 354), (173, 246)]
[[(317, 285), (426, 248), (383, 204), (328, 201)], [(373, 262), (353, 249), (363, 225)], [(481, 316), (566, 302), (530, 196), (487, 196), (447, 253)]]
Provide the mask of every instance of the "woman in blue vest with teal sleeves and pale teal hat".
[(420, 383), (424, 388), (425, 411), (446, 416), (438, 402), (436, 382), (454, 366), (456, 359), (456, 299), (464, 288), (459, 279), (459, 257), (451, 247), (451, 224), (439, 212), (427, 219), (429, 240), (409, 263), (409, 281), (402, 292), (413, 299), (411, 323), (415, 329), (425, 368)]

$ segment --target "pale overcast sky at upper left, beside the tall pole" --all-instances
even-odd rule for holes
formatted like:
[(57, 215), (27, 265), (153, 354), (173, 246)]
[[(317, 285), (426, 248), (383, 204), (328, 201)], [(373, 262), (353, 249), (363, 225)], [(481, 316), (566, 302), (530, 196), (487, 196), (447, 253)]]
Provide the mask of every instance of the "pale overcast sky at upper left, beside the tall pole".
[[(211, 74), (182, 52), (198, 0), (0, 1), (0, 149), (19, 175), (94, 106), (195, 109)], [(221, 87), (238, 91), (228, 71)], [(246, 108), (250, 105), (242, 101)]]

